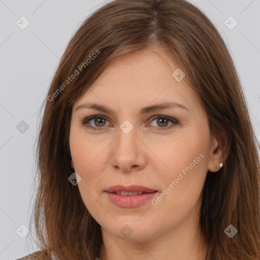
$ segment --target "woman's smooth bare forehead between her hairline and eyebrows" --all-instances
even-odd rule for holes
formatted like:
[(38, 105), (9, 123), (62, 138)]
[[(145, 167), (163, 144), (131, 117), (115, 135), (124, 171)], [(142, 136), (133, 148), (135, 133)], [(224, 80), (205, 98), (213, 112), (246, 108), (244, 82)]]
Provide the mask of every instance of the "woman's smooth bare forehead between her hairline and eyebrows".
[[(186, 77), (172, 76), (180, 68), (164, 49), (143, 49), (116, 57), (90, 88), (76, 102), (121, 108), (138, 108), (161, 102), (195, 106), (198, 98)], [(189, 105), (188, 105), (189, 104)]]

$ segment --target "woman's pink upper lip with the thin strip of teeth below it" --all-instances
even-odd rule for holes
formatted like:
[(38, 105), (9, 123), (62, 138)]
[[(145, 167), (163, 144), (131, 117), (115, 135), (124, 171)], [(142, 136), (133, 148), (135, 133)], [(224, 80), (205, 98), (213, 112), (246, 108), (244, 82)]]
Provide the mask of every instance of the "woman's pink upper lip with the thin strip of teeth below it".
[(140, 185), (131, 185), (131, 186), (123, 186), (123, 185), (114, 185), (105, 190), (106, 192), (115, 193), (121, 196), (136, 196), (143, 193), (151, 193), (157, 190), (140, 186)]

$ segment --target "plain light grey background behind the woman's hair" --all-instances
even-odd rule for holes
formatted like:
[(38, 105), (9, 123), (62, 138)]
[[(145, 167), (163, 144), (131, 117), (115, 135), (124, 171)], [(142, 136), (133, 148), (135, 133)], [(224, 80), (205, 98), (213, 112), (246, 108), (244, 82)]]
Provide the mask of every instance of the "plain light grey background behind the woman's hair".
[[(191, 2), (213, 21), (231, 51), (259, 140), (260, 1)], [(72, 34), (103, 4), (104, 0), (0, 0), (0, 259), (17, 259), (38, 250), (18, 234), (25, 232), (21, 224), (28, 226), (35, 198), (32, 177), (39, 108)], [(24, 30), (16, 25), (21, 16), (29, 21)], [(230, 16), (238, 21), (232, 30), (224, 24)], [(227, 22), (234, 24), (232, 20)], [(16, 127), (22, 120), (29, 125), (24, 133)]]

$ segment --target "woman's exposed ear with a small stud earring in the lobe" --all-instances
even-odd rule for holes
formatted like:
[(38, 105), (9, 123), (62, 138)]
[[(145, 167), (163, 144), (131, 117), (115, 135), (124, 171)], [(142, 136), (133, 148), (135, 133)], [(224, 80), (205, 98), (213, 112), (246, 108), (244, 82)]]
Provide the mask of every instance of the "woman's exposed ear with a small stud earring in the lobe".
[[(230, 140), (227, 136), (221, 137), (212, 137), (211, 138), (211, 147), (209, 151), (209, 163), (208, 171), (209, 172), (218, 172), (220, 164), (224, 166), (224, 161), (228, 156), (230, 151)], [(223, 167), (222, 166), (222, 167)]]

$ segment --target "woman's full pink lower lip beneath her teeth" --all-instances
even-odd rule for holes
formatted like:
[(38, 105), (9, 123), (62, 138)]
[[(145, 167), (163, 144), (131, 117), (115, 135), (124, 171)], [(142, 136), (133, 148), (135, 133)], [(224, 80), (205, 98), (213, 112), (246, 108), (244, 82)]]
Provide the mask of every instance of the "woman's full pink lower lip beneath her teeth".
[(122, 208), (135, 208), (141, 206), (142, 204), (150, 201), (157, 191), (150, 193), (143, 193), (136, 196), (120, 196), (115, 193), (107, 192), (108, 198), (117, 206)]

